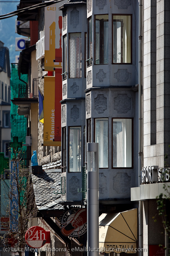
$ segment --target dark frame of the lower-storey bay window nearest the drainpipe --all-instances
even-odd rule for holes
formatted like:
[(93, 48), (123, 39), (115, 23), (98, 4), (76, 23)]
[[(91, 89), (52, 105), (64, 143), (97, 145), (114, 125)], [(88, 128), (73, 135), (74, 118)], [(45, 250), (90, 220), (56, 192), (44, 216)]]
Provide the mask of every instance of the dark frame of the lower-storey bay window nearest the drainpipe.
[[(113, 167), (113, 119), (131, 119), (132, 120), (132, 166), (131, 167)], [(133, 169), (133, 162), (134, 162), (134, 159), (133, 159), (133, 135), (134, 135), (134, 132), (133, 132), (133, 117), (112, 117), (112, 169)]]

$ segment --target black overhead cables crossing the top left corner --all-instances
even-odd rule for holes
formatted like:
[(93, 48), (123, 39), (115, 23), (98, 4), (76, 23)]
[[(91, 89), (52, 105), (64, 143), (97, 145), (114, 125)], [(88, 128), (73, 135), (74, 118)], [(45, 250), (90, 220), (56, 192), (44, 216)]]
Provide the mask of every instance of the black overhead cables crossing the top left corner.
[(12, 16), (18, 15), (20, 13), (27, 12), (28, 10), (29, 11), (34, 10), (34, 9), (36, 10), (38, 8), (46, 7), (48, 5), (55, 4), (55, 3), (58, 3), (58, 2), (62, 2), (62, 1), (63, 0), (51, 0), (51, 1), (48, 1), (48, 2), (40, 3), (40, 4), (34, 4), (34, 5), (31, 5), (31, 6), (28, 6), (28, 7), (13, 11), (13, 12), (9, 12), (9, 13), (0, 15), (0, 20), (7, 19), (7, 18), (10, 18)]

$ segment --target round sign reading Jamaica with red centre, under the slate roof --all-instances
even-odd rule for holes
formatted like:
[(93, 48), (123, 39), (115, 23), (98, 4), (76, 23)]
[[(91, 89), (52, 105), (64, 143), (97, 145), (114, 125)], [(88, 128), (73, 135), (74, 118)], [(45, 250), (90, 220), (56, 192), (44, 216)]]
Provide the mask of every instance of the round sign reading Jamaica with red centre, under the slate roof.
[(62, 217), (61, 225), (61, 232), (64, 236), (82, 236), (87, 231), (86, 209), (73, 208), (68, 210)]

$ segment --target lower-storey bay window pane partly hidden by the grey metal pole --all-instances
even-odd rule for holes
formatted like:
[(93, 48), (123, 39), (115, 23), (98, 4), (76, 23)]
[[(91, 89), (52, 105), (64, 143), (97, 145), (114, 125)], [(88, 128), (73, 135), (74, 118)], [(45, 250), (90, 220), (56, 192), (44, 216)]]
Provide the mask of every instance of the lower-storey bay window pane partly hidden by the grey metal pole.
[(108, 118), (95, 119), (95, 142), (99, 143), (99, 168), (108, 168)]

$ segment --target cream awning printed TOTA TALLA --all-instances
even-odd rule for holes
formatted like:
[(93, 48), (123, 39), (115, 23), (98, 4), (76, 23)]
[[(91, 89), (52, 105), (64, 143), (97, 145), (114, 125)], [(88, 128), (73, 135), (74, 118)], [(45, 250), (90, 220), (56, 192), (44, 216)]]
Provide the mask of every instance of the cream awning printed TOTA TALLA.
[(101, 252), (137, 253), (137, 208), (99, 217), (99, 248)]

